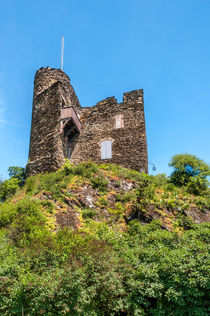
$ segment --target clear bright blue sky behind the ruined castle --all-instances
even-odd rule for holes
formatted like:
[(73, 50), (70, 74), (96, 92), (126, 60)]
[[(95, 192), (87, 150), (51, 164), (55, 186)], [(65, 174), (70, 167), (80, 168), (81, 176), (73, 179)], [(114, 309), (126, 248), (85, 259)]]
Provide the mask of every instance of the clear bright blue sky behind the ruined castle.
[[(144, 89), (149, 161), (210, 162), (209, 0), (7, 0), (0, 10), (0, 176), (28, 159), (33, 78), (60, 67), (83, 106)], [(150, 168), (150, 173), (153, 173)]]

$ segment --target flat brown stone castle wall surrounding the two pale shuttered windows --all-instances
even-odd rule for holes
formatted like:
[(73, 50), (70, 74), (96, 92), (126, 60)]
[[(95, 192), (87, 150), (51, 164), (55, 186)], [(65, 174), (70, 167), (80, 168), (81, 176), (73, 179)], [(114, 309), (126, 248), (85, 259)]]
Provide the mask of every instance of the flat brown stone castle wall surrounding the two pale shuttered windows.
[[(116, 129), (116, 116), (124, 127)], [(148, 172), (143, 90), (124, 94), (123, 102), (107, 98), (80, 113), (82, 132), (71, 161), (109, 162)], [(112, 141), (112, 158), (101, 160), (101, 142)]]

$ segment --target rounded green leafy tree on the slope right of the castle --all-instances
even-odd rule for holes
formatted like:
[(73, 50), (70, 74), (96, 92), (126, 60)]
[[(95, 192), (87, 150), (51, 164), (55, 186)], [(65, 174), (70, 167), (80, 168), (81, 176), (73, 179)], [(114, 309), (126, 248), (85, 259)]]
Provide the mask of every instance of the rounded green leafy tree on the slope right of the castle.
[(174, 185), (183, 186), (193, 182), (195, 186), (194, 180), (197, 179), (196, 182), (200, 183), (199, 187), (202, 190), (208, 187), (206, 178), (210, 175), (210, 166), (197, 156), (190, 154), (174, 155), (169, 166), (174, 168), (170, 176), (170, 180)]

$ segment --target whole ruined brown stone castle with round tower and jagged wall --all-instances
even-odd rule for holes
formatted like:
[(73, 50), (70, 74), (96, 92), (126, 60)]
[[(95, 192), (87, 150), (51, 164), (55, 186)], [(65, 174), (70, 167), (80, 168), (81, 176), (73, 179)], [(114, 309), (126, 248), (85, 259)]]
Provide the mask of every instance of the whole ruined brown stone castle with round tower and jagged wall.
[(41, 68), (34, 80), (27, 175), (73, 163), (110, 162), (148, 172), (143, 90), (81, 107), (69, 77)]

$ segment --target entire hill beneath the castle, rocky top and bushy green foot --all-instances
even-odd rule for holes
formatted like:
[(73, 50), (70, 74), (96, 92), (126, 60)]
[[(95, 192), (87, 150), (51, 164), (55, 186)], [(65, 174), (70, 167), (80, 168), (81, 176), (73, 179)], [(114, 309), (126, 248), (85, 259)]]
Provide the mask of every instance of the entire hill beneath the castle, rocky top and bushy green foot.
[(208, 196), (164, 176), (31, 177), (0, 204), (0, 314), (207, 315), (208, 220)]

